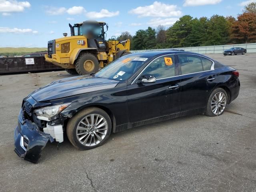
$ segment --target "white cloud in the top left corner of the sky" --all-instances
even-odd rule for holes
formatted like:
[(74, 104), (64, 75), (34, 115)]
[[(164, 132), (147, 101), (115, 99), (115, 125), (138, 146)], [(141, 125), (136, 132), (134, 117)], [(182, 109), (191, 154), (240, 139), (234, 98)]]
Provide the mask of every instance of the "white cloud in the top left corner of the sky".
[(31, 5), (27, 1), (16, 0), (0, 0), (0, 12), (23, 12), (25, 8), (29, 8)]

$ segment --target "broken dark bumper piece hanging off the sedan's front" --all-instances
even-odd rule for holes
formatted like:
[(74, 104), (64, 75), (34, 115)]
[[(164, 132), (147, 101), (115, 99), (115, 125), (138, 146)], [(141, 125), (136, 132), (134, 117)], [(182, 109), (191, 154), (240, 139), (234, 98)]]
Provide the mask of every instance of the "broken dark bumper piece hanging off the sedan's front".
[(14, 131), (14, 151), (16, 154), (24, 160), (37, 163), (48, 140), (54, 141), (50, 134), (40, 131), (36, 124), (30, 120), (23, 120), (21, 111), (18, 126)]

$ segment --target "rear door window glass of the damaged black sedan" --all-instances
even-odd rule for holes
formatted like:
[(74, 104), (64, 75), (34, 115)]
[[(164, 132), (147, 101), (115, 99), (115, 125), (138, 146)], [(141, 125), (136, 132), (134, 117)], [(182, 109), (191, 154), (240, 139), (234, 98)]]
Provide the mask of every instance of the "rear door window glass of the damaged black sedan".
[(178, 55), (182, 75), (203, 71), (202, 62), (199, 56)]

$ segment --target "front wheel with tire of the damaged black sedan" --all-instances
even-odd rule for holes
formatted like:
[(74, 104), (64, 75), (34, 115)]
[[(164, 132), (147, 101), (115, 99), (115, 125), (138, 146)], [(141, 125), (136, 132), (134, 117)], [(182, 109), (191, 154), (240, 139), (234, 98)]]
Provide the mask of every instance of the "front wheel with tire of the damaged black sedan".
[(96, 107), (86, 108), (73, 116), (67, 124), (67, 136), (71, 144), (80, 150), (101, 146), (112, 130), (108, 114)]

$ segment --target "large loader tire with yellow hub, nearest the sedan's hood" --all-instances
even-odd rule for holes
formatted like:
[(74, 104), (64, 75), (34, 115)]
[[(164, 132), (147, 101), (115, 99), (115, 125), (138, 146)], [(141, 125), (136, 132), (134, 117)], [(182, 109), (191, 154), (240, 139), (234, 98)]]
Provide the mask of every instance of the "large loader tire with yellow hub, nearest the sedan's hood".
[(99, 61), (93, 54), (82, 53), (78, 56), (75, 66), (78, 74), (88, 75), (98, 72)]

